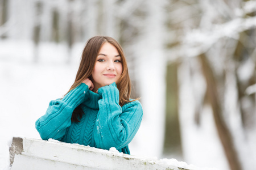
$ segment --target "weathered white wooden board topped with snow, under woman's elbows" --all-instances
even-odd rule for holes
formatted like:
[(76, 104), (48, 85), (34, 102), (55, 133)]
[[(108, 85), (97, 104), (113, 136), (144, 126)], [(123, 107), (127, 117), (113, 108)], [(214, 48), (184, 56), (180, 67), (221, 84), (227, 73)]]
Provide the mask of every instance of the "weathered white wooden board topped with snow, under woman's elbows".
[[(16, 169), (170, 169), (198, 170), (176, 159), (148, 159), (49, 139), (13, 138), (10, 167)], [(200, 168), (201, 169), (201, 168)]]

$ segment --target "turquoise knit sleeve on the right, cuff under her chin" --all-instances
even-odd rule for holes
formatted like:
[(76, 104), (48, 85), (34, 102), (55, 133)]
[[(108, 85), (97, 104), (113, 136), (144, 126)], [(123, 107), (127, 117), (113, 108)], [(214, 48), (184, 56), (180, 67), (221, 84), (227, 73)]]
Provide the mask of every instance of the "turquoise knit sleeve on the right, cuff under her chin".
[(115, 83), (99, 88), (99, 112), (94, 130), (96, 147), (117, 150), (127, 146), (137, 133), (142, 121), (142, 106), (139, 101), (119, 105), (119, 91)]

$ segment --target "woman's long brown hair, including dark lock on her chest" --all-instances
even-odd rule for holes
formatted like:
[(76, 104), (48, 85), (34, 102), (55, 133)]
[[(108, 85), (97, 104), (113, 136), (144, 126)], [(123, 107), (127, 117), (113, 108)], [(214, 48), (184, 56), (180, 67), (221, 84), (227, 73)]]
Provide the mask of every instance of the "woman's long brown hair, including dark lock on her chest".
[[(127, 62), (125, 59), (125, 54), (123, 53), (123, 49), (121, 45), (115, 41), (112, 37), (108, 36), (95, 36), (89, 39), (85, 45), (85, 48), (82, 52), (81, 56), (81, 62), (79, 69), (76, 74), (76, 79), (69, 91), (73, 90), (77, 86), (81, 84), (83, 80), (86, 78), (91, 78), (92, 71), (95, 66), (96, 57), (98, 56), (98, 53), (100, 52), (101, 46), (105, 43), (109, 42), (115, 48), (117, 48), (119, 55), (121, 57), (121, 63), (123, 67), (123, 71), (121, 76), (119, 77), (118, 81), (116, 82), (117, 88), (119, 90), (119, 105), (121, 107), (130, 102), (130, 95), (131, 95), (131, 81), (130, 76), (128, 73), (128, 67)], [(68, 92), (69, 92), (68, 91)], [(135, 99), (137, 100), (137, 99)], [(134, 100), (133, 100), (134, 101)], [(80, 107), (77, 107), (75, 111), (72, 114), (71, 120), (74, 122), (79, 122), (78, 117), (81, 118), (82, 116), (82, 109)]]

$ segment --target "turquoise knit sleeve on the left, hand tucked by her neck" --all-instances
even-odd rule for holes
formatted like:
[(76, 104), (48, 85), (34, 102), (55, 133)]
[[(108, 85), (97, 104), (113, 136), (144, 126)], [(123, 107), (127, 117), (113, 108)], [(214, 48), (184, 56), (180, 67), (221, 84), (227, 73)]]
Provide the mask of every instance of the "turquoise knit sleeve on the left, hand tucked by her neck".
[(71, 125), (73, 111), (86, 99), (88, 91), (88, 86), (81, 83), (63, 99), (52, 100), (49, 103), (46, 114), (35, 123), (35, 128), (43, 140), (49, 138), (60, 140), (65, 135), (67, 128)]

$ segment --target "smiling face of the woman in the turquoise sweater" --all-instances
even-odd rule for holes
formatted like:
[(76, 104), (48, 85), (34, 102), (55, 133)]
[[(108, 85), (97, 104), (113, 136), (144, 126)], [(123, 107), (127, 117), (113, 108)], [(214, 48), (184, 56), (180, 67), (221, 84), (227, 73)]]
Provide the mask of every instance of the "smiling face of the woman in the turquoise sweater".
[(93, 91), (96, 92), (102, 86), (117, 82), (122, 71), (121, 57), (117, 48), (105, 42), (98, 53), (92, 72)]

